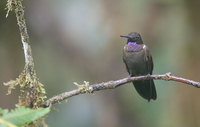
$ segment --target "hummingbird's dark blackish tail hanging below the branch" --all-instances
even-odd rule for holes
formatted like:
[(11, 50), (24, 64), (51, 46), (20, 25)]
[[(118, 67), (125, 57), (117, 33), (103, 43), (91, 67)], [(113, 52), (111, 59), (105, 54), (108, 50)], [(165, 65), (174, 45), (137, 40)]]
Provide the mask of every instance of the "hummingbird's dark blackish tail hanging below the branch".
[(143, 98), (150, 101), (151, 99), (156, 100), (156, 88), (154, 85), (154, 81), (151, 80), (142, 80), (142, 81), (133, 81), (133, 85), (135, 86), (136, 91)]

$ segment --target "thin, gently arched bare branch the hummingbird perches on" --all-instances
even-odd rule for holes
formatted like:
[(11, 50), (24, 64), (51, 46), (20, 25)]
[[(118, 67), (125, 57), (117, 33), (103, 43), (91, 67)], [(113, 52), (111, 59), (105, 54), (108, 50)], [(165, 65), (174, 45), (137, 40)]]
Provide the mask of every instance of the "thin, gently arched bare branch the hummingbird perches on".
[(137, 76), (137, 77), (127, 77), (123, 79), (119, 79), (116, 81), (108, 81), (108, 82), (103, 82), (99, 84), (94, 84), (94, 85), (86, 85), (81, 86), (78, 89), (69, 91), (69, 92), (64, 92), (59, 95), (56, 95), (50, 99), (48, 99), (43, 106), (44, 107), (51, 107), (52, 104), (61, 102), (67, 98), (79, 95), (79, 94), (85, 94), (85, 93), (93, 93), (94, 91), (99, 91), (99, 90), (105, 90), (105, 89), (114, 89), (116, 87), (119, 87), (121, 85), (124, 85), (126, 83), (136, 81), (136, 80), (148, 80), (148, 79), (155, 79), (155, 80), (166, 80), (166, 81), (175, 81), (175, 82), (181, 82), (184, 84), (192, 85), (194, 87), (200, 88), (200, 82), (196, 82), (193, 80), (181, 78), (181, 77), (176, 77), (172, 76), (171, 73), (166, 73), (162, 75), (146, 75), (146, 76)]

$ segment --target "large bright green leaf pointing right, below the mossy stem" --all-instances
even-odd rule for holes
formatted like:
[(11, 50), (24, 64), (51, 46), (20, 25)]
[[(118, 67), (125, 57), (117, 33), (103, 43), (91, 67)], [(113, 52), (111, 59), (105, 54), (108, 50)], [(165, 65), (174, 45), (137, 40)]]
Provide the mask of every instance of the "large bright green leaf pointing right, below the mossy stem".
[(49, 108), (40, 108), (37, 110), (33, 110), (30, 108), (20, 107), (15, 110), (11, 110), (11, 112), (9, 113), (3, 113), (3, 117), (0, 118), (14, 125), (21, 126), (25, 123), (31, 123), (41, 118), (49, 111)]

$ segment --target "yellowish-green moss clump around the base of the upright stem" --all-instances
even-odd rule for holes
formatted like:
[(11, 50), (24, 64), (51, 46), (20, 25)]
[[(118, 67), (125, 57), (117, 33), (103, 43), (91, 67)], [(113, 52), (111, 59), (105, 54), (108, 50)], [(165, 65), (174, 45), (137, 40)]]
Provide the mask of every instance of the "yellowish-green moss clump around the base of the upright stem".
[(43, 84), (40, 83), (35, 76), (31, 78), (30, 75), (21, 73), (16, 80), (11, 80), (4, 83), (4, 85), (8, 86), (8, 94), (11, 94), (12, 89), (15, 89), (16, 86), (20, 87), (18, 106), (27, 106), (37, 109), (46, 98)]

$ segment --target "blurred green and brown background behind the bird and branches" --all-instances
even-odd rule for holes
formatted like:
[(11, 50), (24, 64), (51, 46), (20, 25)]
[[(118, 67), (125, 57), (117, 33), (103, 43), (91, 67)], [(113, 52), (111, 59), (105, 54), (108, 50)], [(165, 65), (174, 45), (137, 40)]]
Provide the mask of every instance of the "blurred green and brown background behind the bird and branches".
[[(128, 76), (122, 62), (125, 39), (139, 32), (150, 48), (154, 74), (172, 72), (199, 81), (199, 0), (26, 0), (25, 17), (35, 68), (47, 96)], [(0, 107), (14, 108), (19, 89), (7, 96), (3, 82), (24, 67), (13, 12), (0, 4)], [(199, 127), (200, 90), (155, 81), (158, 99), (147, 102), (129, 84), (79, 95), (53, 106), (49, 127)]]

